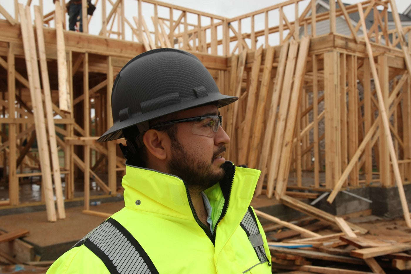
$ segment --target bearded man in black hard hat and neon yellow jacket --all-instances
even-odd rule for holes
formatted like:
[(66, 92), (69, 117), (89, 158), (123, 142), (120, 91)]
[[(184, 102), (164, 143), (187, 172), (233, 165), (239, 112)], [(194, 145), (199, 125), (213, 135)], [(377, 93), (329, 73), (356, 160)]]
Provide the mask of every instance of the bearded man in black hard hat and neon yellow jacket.
[(113, 126), (125, 137), (125, 207), (62, 255), (48, 273), (271, 273), (249, 206), (258, 170), (224, 159), (230, 138), (219, 93), (194, 55), (154, 49), (122, 68)]

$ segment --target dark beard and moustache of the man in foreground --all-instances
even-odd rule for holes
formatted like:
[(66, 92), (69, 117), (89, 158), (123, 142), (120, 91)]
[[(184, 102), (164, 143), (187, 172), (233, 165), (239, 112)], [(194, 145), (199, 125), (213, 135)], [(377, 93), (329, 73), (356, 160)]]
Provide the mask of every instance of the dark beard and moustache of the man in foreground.
[(200, 193), (223, 179), (225, 170), (220, 168), (218, 171), (213, 171), (212, 163), (215, 157), (225, 150), (224, 145), (219, 146), (217, 151), (213, 153), (210, 163), (198, 162), (193, 155), (189, 155), (184, 150), (178, 140), (173, 140), (171, 144), (172, 155), (167, 166), (170, 174), (180, 177), (190, 190)]

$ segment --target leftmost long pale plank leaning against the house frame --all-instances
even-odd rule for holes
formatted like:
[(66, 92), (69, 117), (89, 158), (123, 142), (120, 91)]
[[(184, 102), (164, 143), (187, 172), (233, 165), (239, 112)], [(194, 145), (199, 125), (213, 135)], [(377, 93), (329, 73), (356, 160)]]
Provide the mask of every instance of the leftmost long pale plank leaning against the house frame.
[[(34, 32), (31, 25), (30, 9), (27, 9), (27, 14), (22, 4), (18, 5), (18, 11), (21, 19), (21, 33), (23, 37), (23, 47), (25, 62), (27, 67), (27, 75), (30, 84), (30, 97), (32, 99), (33, 115), (35, 118), (35, 128), (37, 136), (37, 145), (39, 148), (40, 163), (42, 167), (42, 187), (46, 200), (46, 211), (48, 221), (56, 221), (56, 213), (53, 198), (53, 183), (51, 182), (51, 168), (48, 156), (48, 146), (46, 138), (46, 128), (44, 127), (44, 111), (43, 102), (41, 99), (39, 71), (37, 67), (37, 54), (35, 51)], [(26, 17), (27, 16), (27, 17)], [(32, 36), (32, 39), (30, 39)]]

